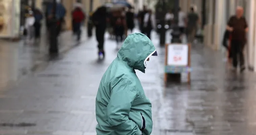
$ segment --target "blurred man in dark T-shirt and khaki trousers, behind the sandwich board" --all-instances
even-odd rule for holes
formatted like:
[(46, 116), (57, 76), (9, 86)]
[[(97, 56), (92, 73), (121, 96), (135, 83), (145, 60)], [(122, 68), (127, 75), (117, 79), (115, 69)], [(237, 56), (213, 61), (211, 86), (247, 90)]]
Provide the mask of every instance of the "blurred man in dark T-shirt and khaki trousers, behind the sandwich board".
[(193, 43), (196, 37), (199, 16), (194, 10), (194, 6), (190, 7), (190, 12), (187, 15), (187, 41)]

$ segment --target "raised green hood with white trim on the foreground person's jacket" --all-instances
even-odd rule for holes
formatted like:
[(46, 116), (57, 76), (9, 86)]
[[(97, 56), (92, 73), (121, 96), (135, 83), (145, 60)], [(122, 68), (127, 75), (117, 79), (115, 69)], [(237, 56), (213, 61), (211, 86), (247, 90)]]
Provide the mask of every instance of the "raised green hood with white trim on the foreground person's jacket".
[(156, 49), (151, 40), (142, 33), (133, 33), (127, 36), (117, 56), (132, 69), (145, 73), (146, 61), (152, 54)]

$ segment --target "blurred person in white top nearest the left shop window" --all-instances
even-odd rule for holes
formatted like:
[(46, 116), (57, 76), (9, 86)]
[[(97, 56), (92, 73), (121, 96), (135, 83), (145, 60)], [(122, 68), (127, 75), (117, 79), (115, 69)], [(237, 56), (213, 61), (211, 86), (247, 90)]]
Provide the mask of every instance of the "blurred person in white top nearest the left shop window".
[(34, 23), (35, 23), (35, 17), (33, 15), (33, 11), (29, 10), (27, 17), (25, 19), (25, 28), (27, 30), (27, 42), (31, 43), (33, 42), (33, 37), (35, 35), (34, 33)]

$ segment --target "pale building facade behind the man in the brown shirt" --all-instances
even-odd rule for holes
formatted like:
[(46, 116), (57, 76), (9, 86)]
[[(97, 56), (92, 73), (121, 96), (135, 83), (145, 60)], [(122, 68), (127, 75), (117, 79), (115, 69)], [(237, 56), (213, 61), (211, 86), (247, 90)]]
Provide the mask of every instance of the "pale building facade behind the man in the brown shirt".
[(191, 5), (197, 6), (202, 28), (204, 44), (213, 50), (222, 50), (222, 39), (230, 16), (235, 15), (237, 6), (244, 7), (244, 16), (248, 22), (245, 56), (249, 68), (256, 72), (256, 1), (255, 0), (180, 0), (180, 7), (188, 11)]

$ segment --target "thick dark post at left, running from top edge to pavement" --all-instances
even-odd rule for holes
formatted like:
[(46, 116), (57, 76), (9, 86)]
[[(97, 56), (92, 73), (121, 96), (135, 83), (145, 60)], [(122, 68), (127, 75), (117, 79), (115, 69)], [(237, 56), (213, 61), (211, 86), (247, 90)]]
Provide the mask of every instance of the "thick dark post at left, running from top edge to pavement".
[(49, 53), (50, 54), (58, 54), (58, 39), (57, 39), (57, 19), (56, 19), (56, 6), (57, 2), (56, 0), (53, 0), (52, 5), (52, 11), (51, 15), (52, 18), (50, 19), (51, 25), (50, 25), (50, 47), (49, 47)]

